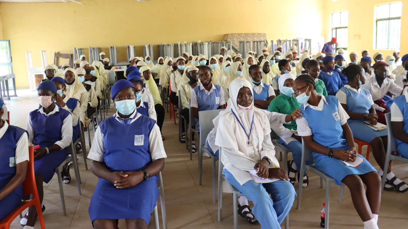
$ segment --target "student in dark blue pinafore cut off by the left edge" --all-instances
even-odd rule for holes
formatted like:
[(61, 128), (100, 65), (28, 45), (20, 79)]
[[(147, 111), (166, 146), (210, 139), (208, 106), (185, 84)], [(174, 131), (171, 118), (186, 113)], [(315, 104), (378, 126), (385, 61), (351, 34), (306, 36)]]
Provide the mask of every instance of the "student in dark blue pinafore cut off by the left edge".
[(0, 220), (21, 204), (29, 161), (27, 132), (1, 119), (3, 106), (0, 99)]

